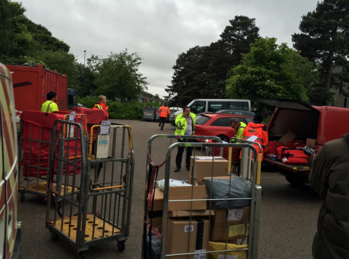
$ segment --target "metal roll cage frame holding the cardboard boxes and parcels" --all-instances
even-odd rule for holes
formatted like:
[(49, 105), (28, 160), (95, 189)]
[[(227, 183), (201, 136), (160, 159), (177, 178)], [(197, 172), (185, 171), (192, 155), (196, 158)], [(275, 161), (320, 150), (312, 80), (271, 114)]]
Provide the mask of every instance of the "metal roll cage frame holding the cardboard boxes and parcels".
[[(219, 143), (171, 143), (171, 146), (169, 146), (167, 152), (166, 152), (166, 159), (161, 164), (155, 166), (151, 159), (151, 147), (154, 139), (160, 138), (160, 139), (202, 139), (204, 141), (205, 139), (212, 139), (213, 141), (217, 141)], [(181, 256), (183, 258), (230, 258), (229, 255), (231, 255), (233, 252), (242, 252), (247, 253), (248, 259), (257, 259), (258, 258), (258, 240), (259, 240), (259, 226), (260, 226), (260, 217), (261, 217), (261, 195), (262, 195), (262, 188), (259, 186), (260, 177), (261, 177), (261, 145), (258, 143), (254, 143), (251, 141), (246, 141), (242, 139), (235, 139), (235, 141), (238, 141), (238, 143), (222, 143), (222, 140), (215, 137), (215, 136), (174, 136), (174, 135), (155, 135), (152, 136), (148, 141), (148, 156), (147, 156), (147, 164), (146, 164), (146, 190), (145, 190), (145, 205), (144, 205), (144, 234), (143, 234), (143, 240), (142, 240), (142, 259), (149, 259), (149, 258), (155, 258), (152, 257), (152, 242), (151, 238), (152, 235), (154, 237), (154, 234), (161, 240), (161, 259), (165, 258), (171, 258), (172, 256)], [(231, 141), (233, 140), (231, 139)], [(256, 148), (254, 148), (253, 145), (259, 146), (259, 154), (256, 151)], [(195, 148), (201, 148), (201, 151), (203, 148), (211, 149), (210, 154), (213, 154), (212, 152), (213, 148), (221, 148), (221, 154), (223, 148), (242, 148), (242, 161), (245, 159), (245, 164), (242, 164), (240, 168), (240, 175), (246, 175), (245, 178), (250, 184), (250, 197), (249, 198), (219, 198), (219, 199), (213, 199), (206, 196), (206, 199), (194, 199), (193, 198), (193, 189), (194, 189), (194, 177), (192, 177), (192, 182), (189, 182), (192, 184), (192, 199), (185, 199), (185, 200), (169, 200), (169, 180), (170, 180), (170, 171), (171, 171), (171, 152), (173, 149), (178, 147), (190, 147), (193, 148), (192, 155), (195, 157)], [(247, 152), (244, 152), (244, 150), (247, 150)], [(212, 157), (212, 163), (214, 163), (215, 157)], [(231, 156), (228, 159), (229, 168), (231, 168)], [(160, 234), (156, 228), (153, 227), (153, 219), (150, 214), (153, 212), (153, 198), (155, 194), (155, 185), (157, 181), (157, 174), (159, 171), (159, 168), (166, 164), (165, 168), (165, 176), (164, 176), (164, 203), (163, 203), (163, 211), (162, 211), (162, 233)], [(195, 166), (195, 163), (194, 163)], [(194, 166), (192, 166), (192, 170), (194, 171)], [(231, 191), (231, 180), (233, 179), (233, 173), (228, 172), (227, 175), (230, 175), (229, 177), (229, 194)], [(185, 176), (184, 176), (185, 178)], [(211, 180), (213, 178), (213, 165), (212, 165), (212, 175), (210, 176)], [(185, 179), (184, 179), (185, 180)], [(212, 194), (212, 185), (211, 185), (210, 194)], [(248, 231), (245, 235), (245, 238), (241, 240), (241, 245), (245, 244), (245, 246), (241, 246), (240, 249), (228, 249), (229, 241), (228, 241), (228, 235), (226, 235), (225, 240), (225, 249), (209, 249), (209, 237), (207, 237), (207, 250), (201, 250), (201, 251), (195, 251), (189, 252), (190, 248), (190, 235), (191, 231), (189, 231), (189, 244), (187, 246), (187, 253), (176, 253), (176, 254), (169, 254), (166, 253), (166, 240), (167, 235), (171, 234), (167, 232), (168, 228), (168, 213), (169, 213), (169, 203), (178, 203), (178, 202), (190, 202), (191, 208), (193, 208), (193, 202), (198, 201), (205, 201), (206, 203), (210, 204), (208, 206), (208, 210), (210, 210), (210, 215), (208, 217), (209, 223), (208, 223), (208, 235), (210, 235), (210, 226), (212, 221), (212, 215), (211, 215), (211, 205), (212, 202), (215, 201), (226, 201), (230, 203), (231, 201), (235, 200), (249, 200), (249, 225), (248, 225)], [(192, 210), (190, 212), (189, 217), (189, 226), (192, 226), (192, 221), (194, 221), (192, 216)], [(229, 232), (228, 227), (228, 220), (226, 220), (226, 233)], [(194, 235), (194, 234), (192, 234)], [(196, 243), (197, 244), (197, 243)], [(195, 247), (195, 246), (194, 246)], [(223, 246), (224, 247), (224, 246)], [(223, 257), (221, 256), (223, 254)], [(158, 255), (157, 255), (158, 256)], [(176, 257), (177, 258), (177, 257)], [(235, 258), (235, 256), (234, 256)], [(237, 257), (240, 258), (240, 257)], [(242, 257), (241, 257), (242, 258)]]

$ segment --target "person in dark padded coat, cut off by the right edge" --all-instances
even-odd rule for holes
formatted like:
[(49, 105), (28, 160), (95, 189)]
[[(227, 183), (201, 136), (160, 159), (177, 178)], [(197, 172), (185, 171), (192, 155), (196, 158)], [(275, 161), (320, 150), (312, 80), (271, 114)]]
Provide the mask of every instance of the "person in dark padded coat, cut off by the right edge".
[(313, 240), (313, 258), (349, 258), (349, 134), (325, 143), (309, 182), (324, 199)]

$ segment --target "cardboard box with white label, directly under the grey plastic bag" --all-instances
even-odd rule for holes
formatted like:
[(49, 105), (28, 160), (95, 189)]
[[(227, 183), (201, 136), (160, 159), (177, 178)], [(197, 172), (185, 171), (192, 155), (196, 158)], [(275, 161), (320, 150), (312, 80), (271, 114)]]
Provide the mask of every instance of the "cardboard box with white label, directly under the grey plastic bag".
[[(242, 239), (246, 236), (249, 223), (249, 207), (220, 210), (211, 204), (215, 211), (210, 227), (210, 241), (225, 242), (228, 234), (228, 242)], [(228, 230), (227, 230), (228, 228)], [(228, 232), (228, 233), (227, 233)]]

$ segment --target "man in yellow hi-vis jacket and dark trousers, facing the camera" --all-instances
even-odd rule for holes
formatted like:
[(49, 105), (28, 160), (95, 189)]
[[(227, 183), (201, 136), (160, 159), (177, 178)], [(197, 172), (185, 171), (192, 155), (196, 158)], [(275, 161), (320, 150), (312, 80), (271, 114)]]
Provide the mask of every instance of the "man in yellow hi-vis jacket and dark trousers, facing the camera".
[[(183, 113), (176, 117), (176, 136), (192, 136), (194, 134), (195, 128), (195, 113), (190, 112), (189, 107), (183, 109)], [(192, 142), (189, 139), (178, 139), (178, 142)], [(182, 157), (184, 152), (184, 147), (178, 147), (178, 152), (176, 156), (176, 169), (175, 172), (180, 171), (182, 164)], [(185, 163), (187, 166), (187, 171), (190, 169), (190, 156), (192, 155), (192, 148), (187, 147), (187, 157), (185, 158)]]

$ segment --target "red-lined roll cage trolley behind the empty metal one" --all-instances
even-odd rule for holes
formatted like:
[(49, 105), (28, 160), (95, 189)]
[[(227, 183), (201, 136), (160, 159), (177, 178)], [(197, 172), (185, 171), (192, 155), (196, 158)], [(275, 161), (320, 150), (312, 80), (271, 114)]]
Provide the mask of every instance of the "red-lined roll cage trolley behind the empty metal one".
[[(22, 115), (26, 115), (27, 111), (24, 111)], [(29, 111), (29, 113), (32, 111)], [(35, 111), (34, 111), (35, 113)], [(51, 171), (51, 152), (56, 152), (52, 147), (55, 146), (56, 138), (54, 138), (54, 134), (56, 134), (57, 128), (63, 128), (61, 132), (63, 138), (68, 138), (70, 134), (72, 134), (73, 128), (67, 128), (68, 124), (65, 122), (69, 119), (70, 121), (75, 121), (76, 123), (84, 123), (85, 125), (85, 135), (87, 134), (87, 126), (86, 126), (86, 116), (84, 114), (74, 114), (71, 116), (69, 113), (65, 112), (55, 112), (55, 114), (59, 114), (63, 116), (63, 120), (61, 121), (61, 125), (58, 123), (54, 123), (52, 125), (40, 125), (40, 121), (26, 121), (25, 125), (29, 127), (24, 127), (24, 121), (21, 121), (21, 129), (20, 129), (20, 141), (19, 141), (19, 154), (18, 157), (20, 159), (26, 157), (25, 162), (19, 163), (19, 172), (26, 170), (24, 173), (24, 180), (20, 180), (20, 183), (25, 182), (25, 186), (18, 187), (18, 191), (20, 192), (20, 199), (24, 202), (25, 194), (33, 194), (39, 197), (45, 198), (47, 195), (47, 191), (49, 191), (49, 185), (47, 184), (47, 179), (49, 178), (49, 172)], [(47, 114), (48, 116), (52, 116), (53, 113)], [(24, 117), (23, 116), (23, 117)], [(22, 117), (21, 117), (22, 118)], [(29, 145), (26, 145), (29, 143)], [(68, 141), (68, 145), (71, 145), (75, 150), (79, 148), (73, 143), (73, 141)], [(26, 151), (22, 152), (22, 148), (26, 145)], [(70, 149), (72, 150), (72, 149)], [(37, 155), (36, 155), (37, 153)], [(68, 154), (67, 159), (73, 160), (75, 157), (79, 156), (80, 153), (70, 152)], [(53, 165), (56, 166), (56, 165)], [(20, 174), (21, 178), (21, 174)], [(36, 180), (35, 182), (33, 182)], [(56, 191), (57, 188), (62, 188), (65, 194), (77, 194), (79, 187), (72, 188), (70, 185), (65, 186), (64, 184), (56, 185), (56, 181), (52, 180), (52, 189)]]

